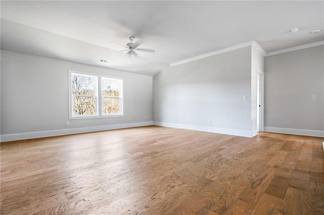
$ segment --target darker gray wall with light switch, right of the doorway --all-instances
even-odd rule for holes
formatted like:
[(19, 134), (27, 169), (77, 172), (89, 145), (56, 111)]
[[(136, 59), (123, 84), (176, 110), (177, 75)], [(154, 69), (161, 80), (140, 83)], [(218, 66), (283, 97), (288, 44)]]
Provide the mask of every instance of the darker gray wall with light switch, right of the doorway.
[(265, 58), (265, 127), (324, 130), (323, 62), (324, 45)]

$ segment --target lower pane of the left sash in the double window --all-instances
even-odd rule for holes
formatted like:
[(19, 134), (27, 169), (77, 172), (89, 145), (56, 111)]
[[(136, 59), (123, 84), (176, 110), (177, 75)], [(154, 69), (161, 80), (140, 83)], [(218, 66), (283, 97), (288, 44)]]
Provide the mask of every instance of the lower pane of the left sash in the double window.
[(73, 115), (96, 115), (96, 97), (74, 95)]

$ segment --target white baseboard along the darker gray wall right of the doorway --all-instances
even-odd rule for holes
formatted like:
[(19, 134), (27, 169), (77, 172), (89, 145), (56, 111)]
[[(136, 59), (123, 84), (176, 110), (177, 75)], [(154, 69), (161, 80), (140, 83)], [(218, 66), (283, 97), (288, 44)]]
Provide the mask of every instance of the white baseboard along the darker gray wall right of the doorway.
[(324, 137), (324, 131), (317, 131), (317, 130), (264, 127), (264, 131), (281, 133), (281, 134), (296, 134), (296, 135), (313, 136), (313, 137)]

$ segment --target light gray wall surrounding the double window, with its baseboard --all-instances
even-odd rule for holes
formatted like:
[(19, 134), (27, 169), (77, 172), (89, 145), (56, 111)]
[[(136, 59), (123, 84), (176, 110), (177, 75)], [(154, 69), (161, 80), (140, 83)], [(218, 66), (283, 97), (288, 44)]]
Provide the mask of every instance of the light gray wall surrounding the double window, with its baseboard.
[[(124, 78), (125, 117), (70, 120), (67, 126), (68, 70)], [(2, 141), (149, 124), (150, 76), (1, 51)]]

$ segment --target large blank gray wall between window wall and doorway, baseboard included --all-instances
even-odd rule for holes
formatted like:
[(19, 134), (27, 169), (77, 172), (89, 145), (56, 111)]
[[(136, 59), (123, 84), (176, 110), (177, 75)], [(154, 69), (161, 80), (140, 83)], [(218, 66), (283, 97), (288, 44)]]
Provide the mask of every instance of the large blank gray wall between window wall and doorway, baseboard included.
[[(242, 99), (244, 95), (248, 100)], [(153, 121), (156, 125), (251, 136), (251, 46), (156, 74)]]

